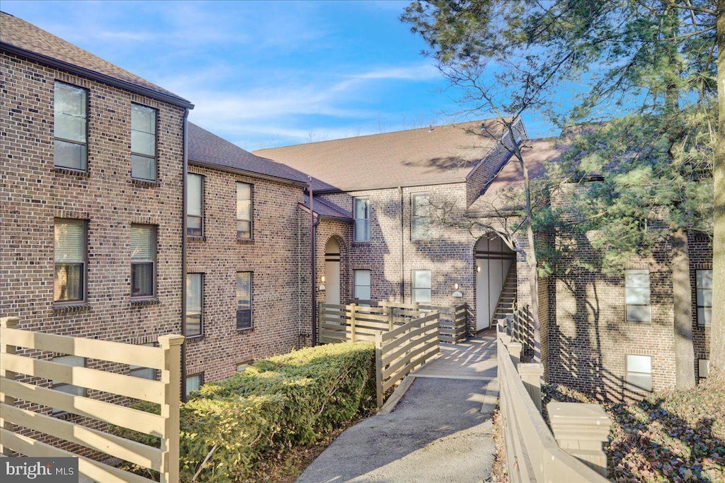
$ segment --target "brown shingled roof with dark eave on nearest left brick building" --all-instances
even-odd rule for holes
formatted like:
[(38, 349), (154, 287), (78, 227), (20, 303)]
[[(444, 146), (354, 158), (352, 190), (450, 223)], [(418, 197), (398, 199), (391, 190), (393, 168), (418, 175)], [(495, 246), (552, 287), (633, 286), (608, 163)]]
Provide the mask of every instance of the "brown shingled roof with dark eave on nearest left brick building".
[(0, 49), (152, 99), (194, 107), (183, 97), (5, 12), (0, 12)]

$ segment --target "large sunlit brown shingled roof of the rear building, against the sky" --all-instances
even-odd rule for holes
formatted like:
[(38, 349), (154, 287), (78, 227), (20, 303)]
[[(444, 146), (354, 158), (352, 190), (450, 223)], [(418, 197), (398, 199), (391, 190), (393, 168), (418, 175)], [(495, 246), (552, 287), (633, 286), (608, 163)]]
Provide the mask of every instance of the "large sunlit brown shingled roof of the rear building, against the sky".
[[(486, 130), (481, 129), (481, 125)], [(315, 191), (465, 181), (494, 146), (496, 120), (433, 126), (254, 151), (317, 178)]]

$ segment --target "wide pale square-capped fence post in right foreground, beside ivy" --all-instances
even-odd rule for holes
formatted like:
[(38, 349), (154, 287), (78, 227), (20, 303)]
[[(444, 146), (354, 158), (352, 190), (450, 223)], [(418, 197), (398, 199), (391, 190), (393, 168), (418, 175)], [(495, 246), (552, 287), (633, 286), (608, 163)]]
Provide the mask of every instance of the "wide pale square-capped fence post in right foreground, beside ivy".
[(607, 455), (602, 443), (609, 437), (609, 416), (596, 404), (550, 402), (549, 420), (559, 447), (607, 476)]

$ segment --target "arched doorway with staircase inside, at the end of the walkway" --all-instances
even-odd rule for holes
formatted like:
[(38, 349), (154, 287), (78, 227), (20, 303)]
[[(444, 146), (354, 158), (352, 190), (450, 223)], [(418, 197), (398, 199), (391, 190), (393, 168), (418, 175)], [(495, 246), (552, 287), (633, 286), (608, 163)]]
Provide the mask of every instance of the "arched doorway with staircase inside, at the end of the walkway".
[(480, 331), (491, 325), (497, 309), (498, 315), (513, 311), (516, 254), (499, 236), (488, 234), (476, 242), (473, 257), (476, 265), (476, 330)]

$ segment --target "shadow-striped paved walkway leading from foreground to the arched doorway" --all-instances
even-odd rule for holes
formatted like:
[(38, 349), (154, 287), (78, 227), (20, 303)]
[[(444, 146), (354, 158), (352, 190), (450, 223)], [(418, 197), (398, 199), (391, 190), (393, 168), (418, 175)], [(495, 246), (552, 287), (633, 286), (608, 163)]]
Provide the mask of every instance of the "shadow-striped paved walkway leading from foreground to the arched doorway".
[(398, 405), (347, 429), (297, 483), (479, 483), (493, 461), (494, 332), (419, 368)]

